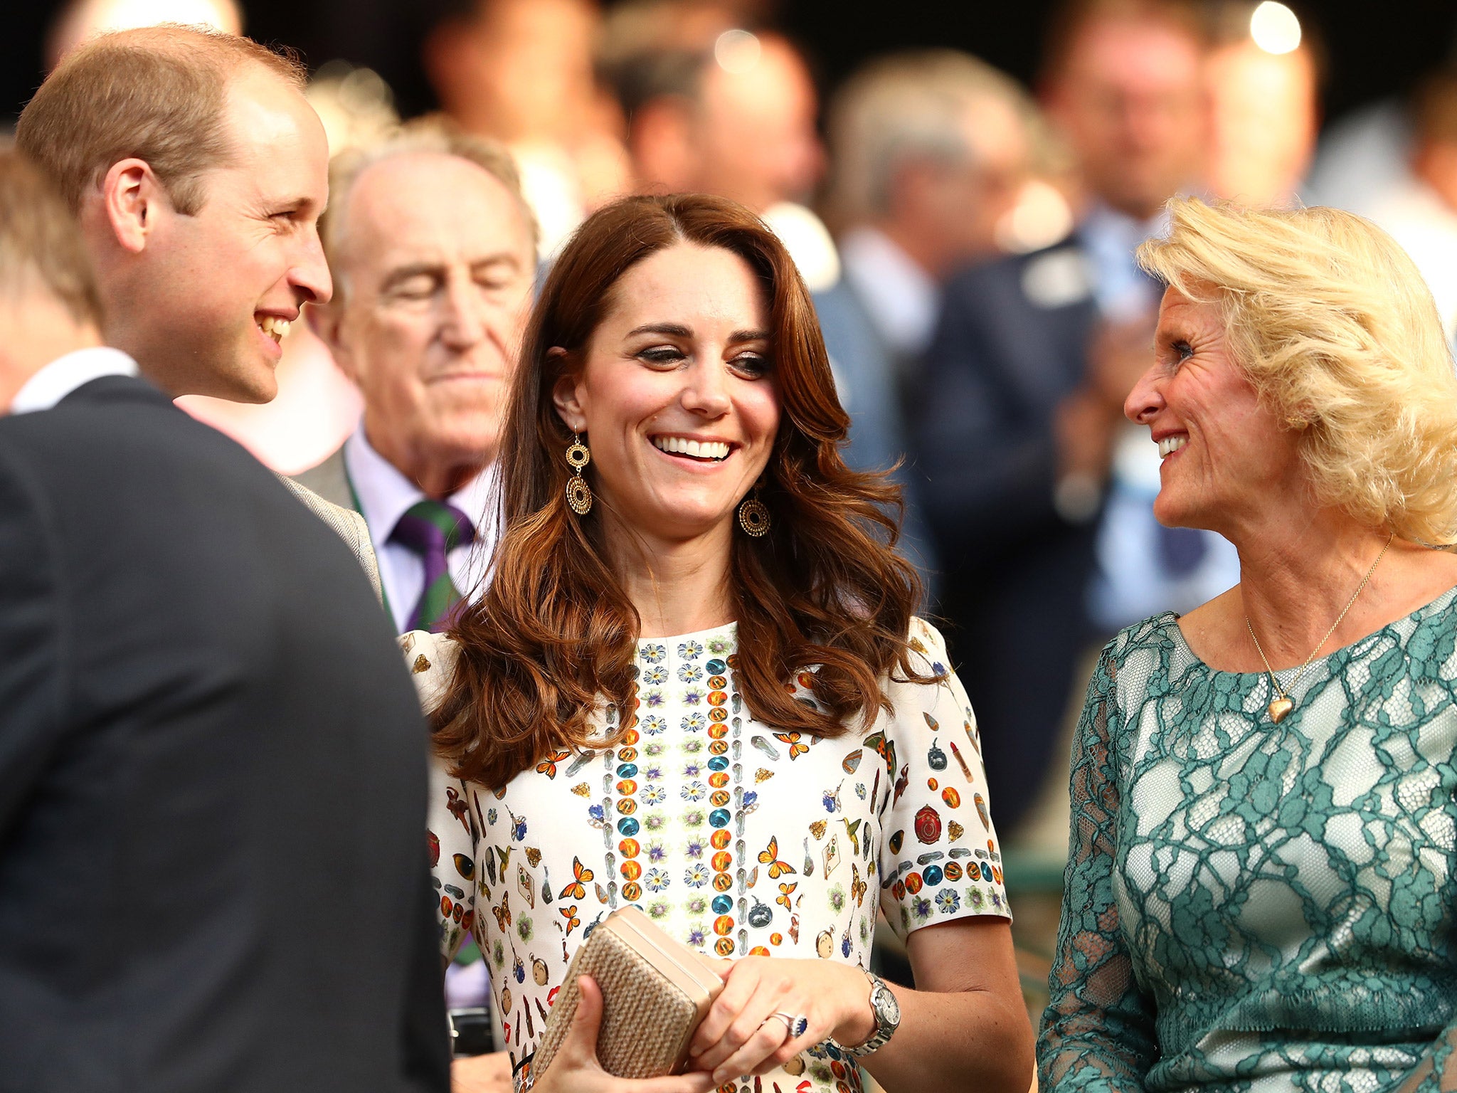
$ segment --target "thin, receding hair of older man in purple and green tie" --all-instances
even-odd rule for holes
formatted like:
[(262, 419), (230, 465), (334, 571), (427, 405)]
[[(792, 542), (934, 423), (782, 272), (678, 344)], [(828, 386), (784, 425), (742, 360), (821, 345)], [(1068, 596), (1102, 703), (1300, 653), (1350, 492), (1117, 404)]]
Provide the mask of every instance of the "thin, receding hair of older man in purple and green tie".
[(536, 216), (522, 192), (522, 175), (516, 157), (500, 141), (466, 133), (441, 114), (430, 114), (407, 121), (383, 140), (364, 147), (341, 152), (329, 163), (329, 207), (319, 220), (319, 239), (323, 242), (323, 256), (334, 274), (334, 302), (341, 303), (347, 287), (347, 271), (341, 261), (344, 248), (344, 224), (348, 220), (350, 195), (369, 168), (396, 156), (437, 154), (463, 159), (475, 163), (485, 173), (506, 187), (516, 200), (516, 211), (522, 217), (530, 239), (532, 261), (536, 259), (539, 232)]

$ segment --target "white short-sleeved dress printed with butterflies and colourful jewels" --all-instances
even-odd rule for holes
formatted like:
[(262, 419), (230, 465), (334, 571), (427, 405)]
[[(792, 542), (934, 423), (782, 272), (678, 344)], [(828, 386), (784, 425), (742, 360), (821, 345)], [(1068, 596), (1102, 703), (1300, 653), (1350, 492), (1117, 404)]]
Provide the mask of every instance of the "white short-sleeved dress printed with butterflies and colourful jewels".
[[(427, 708), (453, 646), (412, 634)], [(441, 952), (474, 933), (517, 1089), (577, 946), (632, 904), (710, 956), (791, 956), (864, 968), (876, 908), (902, 936), (1010, 917), (976, 720), (941, 635), (911, 646), (937, 683), (889, 683), (895, 714), (816, 739), (759, 724), (734, 685), (736, 628), (638, 643), (634, 708), (615, 748), (546, 756), (504, 788), (436, 765), (430, 853)], [(787, 681), (813, 702), (812, 676)], [(602, 729), (616, 726), (606, 708)], [(858, 1093), (852, 1061), (820, 1045), (726, 1093)]]

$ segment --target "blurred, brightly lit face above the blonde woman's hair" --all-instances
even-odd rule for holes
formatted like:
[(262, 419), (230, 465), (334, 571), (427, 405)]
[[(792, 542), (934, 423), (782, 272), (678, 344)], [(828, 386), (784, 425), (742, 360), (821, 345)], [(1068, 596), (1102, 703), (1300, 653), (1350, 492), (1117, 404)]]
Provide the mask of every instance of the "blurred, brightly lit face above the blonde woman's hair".
[(1310, 168), (1320, 121), (1310, 54), (1240, 42), (1209, 54), (1205, 76), (1211, 189), (1249, 205), (1288, 205)]

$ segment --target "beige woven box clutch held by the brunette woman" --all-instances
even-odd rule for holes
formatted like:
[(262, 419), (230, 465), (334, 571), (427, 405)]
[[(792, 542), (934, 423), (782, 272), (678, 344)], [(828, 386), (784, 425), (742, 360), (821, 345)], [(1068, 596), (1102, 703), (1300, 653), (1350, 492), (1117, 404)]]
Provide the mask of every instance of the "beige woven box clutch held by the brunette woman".
[(708, 1014), (723, 979), (707, 956), (679, 944), (634, 906), (613, 911), (571, 957), (541, 1046), (532, 1061), (539, 1078), (567, 1038), (577, 1014), (577, 976), (602, 988), (597, 1059), (619, 1078), (676, 1074), (688, 1045)]

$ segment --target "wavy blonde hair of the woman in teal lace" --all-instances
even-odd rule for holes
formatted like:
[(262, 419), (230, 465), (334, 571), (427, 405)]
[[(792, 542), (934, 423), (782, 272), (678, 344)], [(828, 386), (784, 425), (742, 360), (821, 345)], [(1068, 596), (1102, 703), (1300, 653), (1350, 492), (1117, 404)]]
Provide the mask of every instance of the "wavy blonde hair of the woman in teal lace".
[(1220, 307), (1234, 359), (1301, 430), (1319, 503), (1457, 544), (1457, 372), (1437, 305), (1386, 232), (1338, 208), (1169, 203), (1138, 262)]

